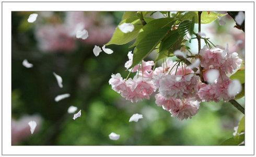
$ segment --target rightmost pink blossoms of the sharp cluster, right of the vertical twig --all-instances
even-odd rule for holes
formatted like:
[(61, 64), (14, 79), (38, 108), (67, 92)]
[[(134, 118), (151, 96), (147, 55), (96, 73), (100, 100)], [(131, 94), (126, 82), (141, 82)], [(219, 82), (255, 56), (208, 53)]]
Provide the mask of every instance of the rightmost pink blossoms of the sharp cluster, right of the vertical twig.
[[(234, 94), (230, 94), (228, 88), (232, 82), (226, 74), (231, 74), (235, 69), (240, 67), (242, 59), (238, 57), (236, 52), (231, 53), (222, 46), (216, 46), (214, 49), (207, 49), (204, 47), (200, 51), (202, 57), (201, 66), (205, 68), (204, 80), (208, 81), (211, 78), (216, 78), (214, 83), (202, 84), (198, 95), (200, 99), (205, 101), (229, 101), (235, 98)], [(218, 71), (216, 75), (207, 75), (212, 70)], [(210, 78), (211, 77), (211, 78)], [(208, 81), (211, 82), (211, 81)]]

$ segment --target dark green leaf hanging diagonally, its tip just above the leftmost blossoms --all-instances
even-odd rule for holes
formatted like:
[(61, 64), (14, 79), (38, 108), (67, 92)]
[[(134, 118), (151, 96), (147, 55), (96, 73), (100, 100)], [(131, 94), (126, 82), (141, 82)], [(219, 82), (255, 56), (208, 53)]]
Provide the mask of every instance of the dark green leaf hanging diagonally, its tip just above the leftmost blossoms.
[[(133, 52), (133, 64), (134, 67), (142, 61), (150, 52), (152, 52), (159, 42), (165, 37), (170, 27), (164, 27), (155, 31), (151, 31), (145, 34), (144, 38), (137, 44)], [(144, 30), (144, 32), (146, 32)]]

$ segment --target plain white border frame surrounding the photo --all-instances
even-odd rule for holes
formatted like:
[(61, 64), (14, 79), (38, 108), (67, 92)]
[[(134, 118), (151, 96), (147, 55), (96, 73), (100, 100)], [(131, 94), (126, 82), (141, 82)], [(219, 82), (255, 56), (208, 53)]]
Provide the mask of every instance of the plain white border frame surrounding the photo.
[[(2, 2), (2, 154), (222, 154), (254, 155), (254, 2)], [(11, 11), (245, 11), (246, 146), (11, 146)], [(252, 88), (253, 87), (253, 88)]]

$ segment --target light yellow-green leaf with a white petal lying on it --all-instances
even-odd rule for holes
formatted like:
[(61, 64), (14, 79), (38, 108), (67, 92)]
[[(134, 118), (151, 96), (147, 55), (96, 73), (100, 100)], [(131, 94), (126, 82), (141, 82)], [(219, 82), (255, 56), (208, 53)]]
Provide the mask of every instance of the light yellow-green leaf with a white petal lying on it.
[(116, 44), (116, 45), (126, 44), (126, 43), (134, 40), (137, 37), (139, 30), (141, 30), (141, 28), (143, 27), (141, 21), (139, 19), (137, 19), (136, 17), (124, 19), (124, 20), (122, 20), (119, 23), (119, 25), (121, 25), (124, 22), (132, 23), (132, 25), (134, 26), (134, 30), (132, 32), (129, 32), (129, 33), (123, 33), (117, 27), (115, 29), (114, 33), (113, 33), (113, 36), (112, 36), (111, 40), (106, 45), (110, 45), (110, 44)]

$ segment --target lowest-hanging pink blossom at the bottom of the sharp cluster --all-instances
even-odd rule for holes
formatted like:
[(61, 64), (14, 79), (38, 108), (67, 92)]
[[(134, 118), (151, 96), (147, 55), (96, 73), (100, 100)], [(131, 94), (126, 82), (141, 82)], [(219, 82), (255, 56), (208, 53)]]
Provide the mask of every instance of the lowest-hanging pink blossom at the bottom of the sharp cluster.
[(174, 107), (170, 110), (172, 117), (177, 117), (179, 120), (192, 118), (198, 109), (199, 102), (193, 99), (176, 100), (177, 103), (173, 103)]

